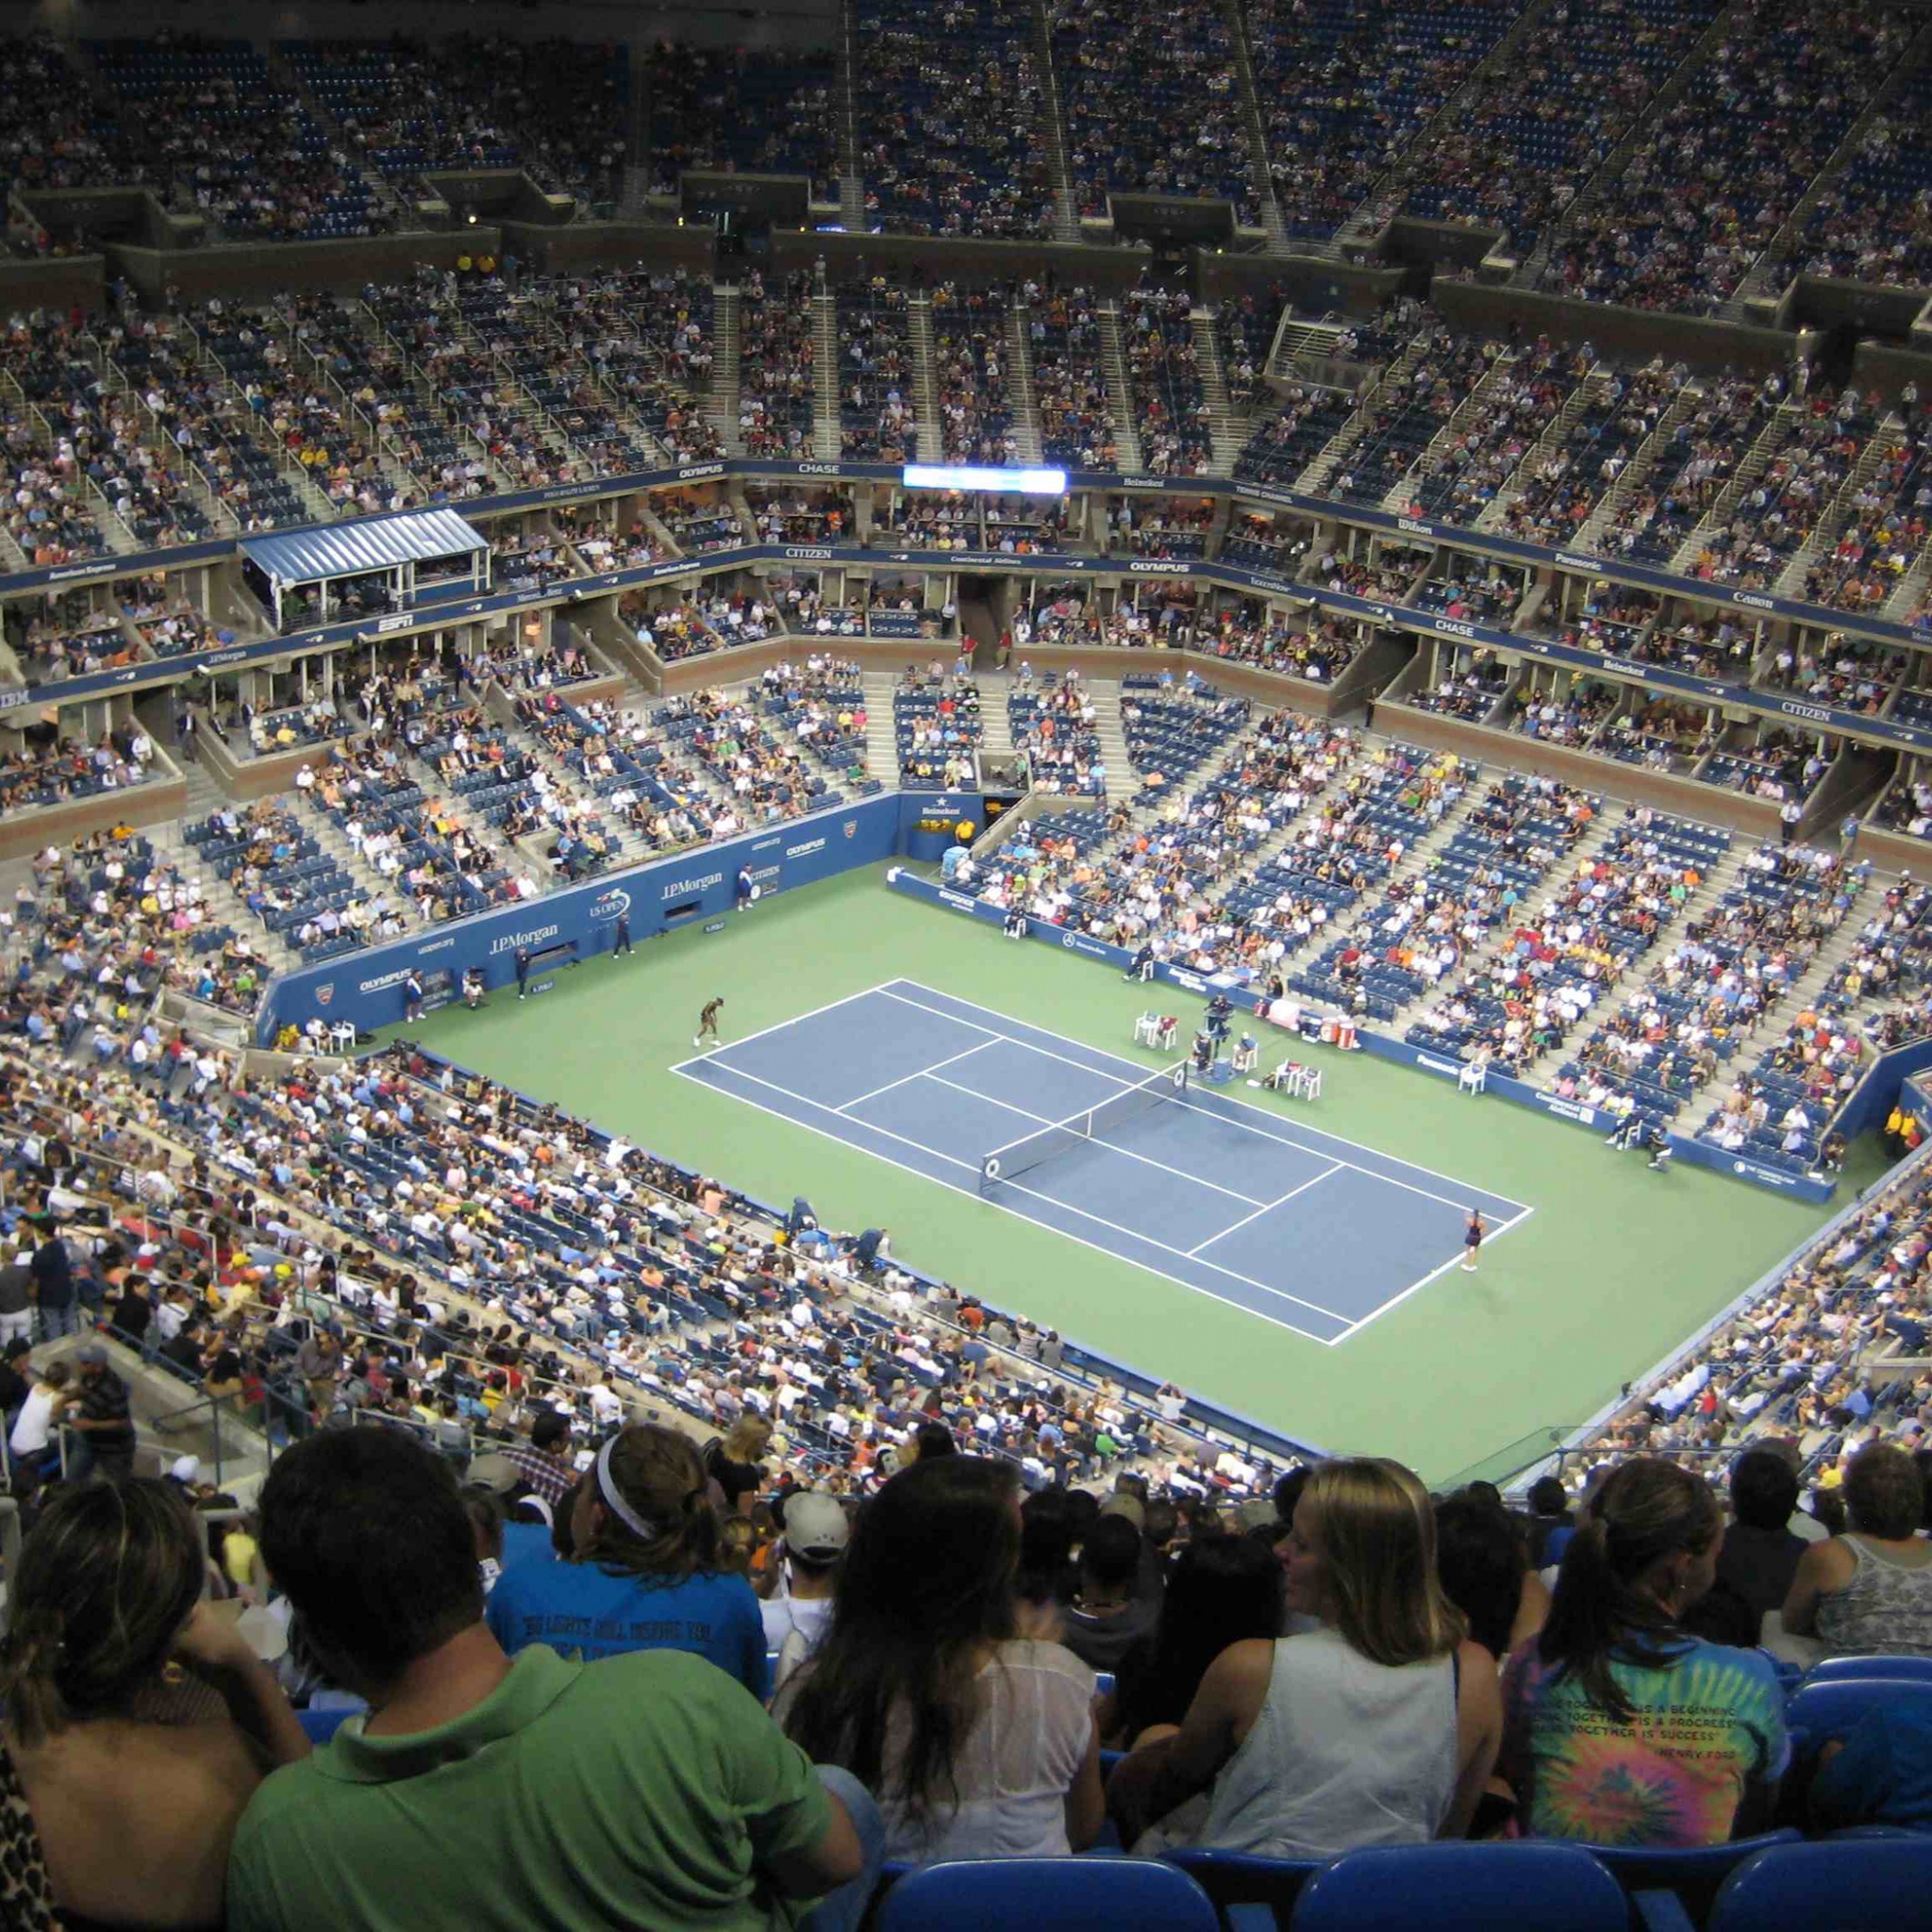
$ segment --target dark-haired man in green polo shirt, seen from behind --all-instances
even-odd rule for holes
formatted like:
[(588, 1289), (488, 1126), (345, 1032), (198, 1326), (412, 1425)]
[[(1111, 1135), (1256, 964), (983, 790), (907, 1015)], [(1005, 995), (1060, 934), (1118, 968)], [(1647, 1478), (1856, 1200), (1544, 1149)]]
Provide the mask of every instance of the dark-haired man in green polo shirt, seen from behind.
[(261, 1492), (261, 1553), (369, 1714), (255, 1793), (228, 1932), (767, 1932), (835, 1888), (813, 1917), (856, 1922), (864, 1791), (701, 1658), (506, 1658), (450, 1466), (413, 1437), (290, 1449)]

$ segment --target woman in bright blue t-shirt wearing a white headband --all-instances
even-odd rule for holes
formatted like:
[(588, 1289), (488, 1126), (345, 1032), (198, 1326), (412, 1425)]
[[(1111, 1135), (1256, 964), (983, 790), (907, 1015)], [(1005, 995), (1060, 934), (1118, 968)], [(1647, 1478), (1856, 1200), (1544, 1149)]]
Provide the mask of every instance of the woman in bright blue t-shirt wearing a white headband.
[(719, 1561), (719, 1522), (697, 1445), (636, 1424), (597, 1451), (570, 1507), (574, 1561), (526, 1559), (489, 1596), (489, 1627), (512, 1656), (692, 1650), (771, 1694), (765, 1621), (744, 1577)]

